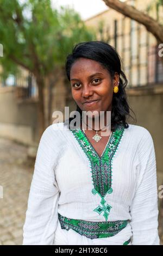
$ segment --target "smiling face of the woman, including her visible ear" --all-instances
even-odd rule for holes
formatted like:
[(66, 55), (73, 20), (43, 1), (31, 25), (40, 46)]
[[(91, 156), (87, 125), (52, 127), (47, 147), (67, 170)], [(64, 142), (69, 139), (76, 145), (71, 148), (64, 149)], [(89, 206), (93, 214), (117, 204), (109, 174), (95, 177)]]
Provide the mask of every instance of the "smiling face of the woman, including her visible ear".
[(82, 111), (111, 111), (113, 88), (119, 81), (117, 73), (111, 79), (100, 63), (79, 58), (71, 67), (70, 81), (73, 99)]

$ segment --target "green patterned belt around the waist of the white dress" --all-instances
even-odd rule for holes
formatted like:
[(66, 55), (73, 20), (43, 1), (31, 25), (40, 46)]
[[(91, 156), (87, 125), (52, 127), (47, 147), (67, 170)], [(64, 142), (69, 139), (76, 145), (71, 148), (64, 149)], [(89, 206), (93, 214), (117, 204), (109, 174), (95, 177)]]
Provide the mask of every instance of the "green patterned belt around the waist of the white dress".
[[(90, 239), (114, 236), (125, 228), (128, 223), (127, 220), (105, 222), (74, 220), (61, 216), (59, 213), (58, 218), (62, 229), (69, 230), (71, 228), (80, 235), (84, 235)], [(130, 239), (124, 242), (123, 245), (128, 245), (128, 243), (130, 243)]]

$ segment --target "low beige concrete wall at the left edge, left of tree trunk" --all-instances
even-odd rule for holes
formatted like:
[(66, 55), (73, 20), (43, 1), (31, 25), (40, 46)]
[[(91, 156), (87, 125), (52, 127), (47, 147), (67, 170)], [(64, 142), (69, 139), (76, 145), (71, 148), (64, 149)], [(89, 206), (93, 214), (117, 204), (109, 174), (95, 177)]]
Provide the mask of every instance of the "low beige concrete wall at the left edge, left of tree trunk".
[(27, 145), (37, 144), (37, 101), (18, 100), (15, 88), (0, 88), (0, 136)]

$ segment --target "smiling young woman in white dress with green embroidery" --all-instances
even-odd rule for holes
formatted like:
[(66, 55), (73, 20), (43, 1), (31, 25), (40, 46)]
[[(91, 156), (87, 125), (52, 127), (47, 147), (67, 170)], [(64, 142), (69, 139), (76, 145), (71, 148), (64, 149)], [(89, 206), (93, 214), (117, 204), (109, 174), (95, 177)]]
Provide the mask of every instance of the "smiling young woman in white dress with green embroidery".
[[(82, 123), (47, 127), (30, 187), (23, 245), (159, 245), (153, 139), (128, 124), (129, 106), (116, 50), (82, 42), (67, 56), (66, 73)], [(92, 129), (82, 113), (92, 117)], [(94, 112), (93, 112), (94, 111)], [(95, 127), (111, 112), (111, 129)], [(68, 127), (68, 129), (67, 129)], [(70, 128), (70, 129), (69, 129)]]

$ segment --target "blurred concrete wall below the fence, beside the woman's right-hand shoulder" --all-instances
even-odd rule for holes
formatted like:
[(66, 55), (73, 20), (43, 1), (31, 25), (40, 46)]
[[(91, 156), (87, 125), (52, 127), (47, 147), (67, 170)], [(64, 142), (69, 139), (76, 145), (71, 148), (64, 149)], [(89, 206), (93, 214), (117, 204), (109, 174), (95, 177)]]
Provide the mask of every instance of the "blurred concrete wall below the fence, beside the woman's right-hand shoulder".
[[(127, 90), (128, 102), (137, 119), (136, 125), (145, 127), (152, 135), (155, 156), (158, 193), (159, 186), (163, 185), (163, 84), (153, 87), (133, 88)], [(133, 115), (133, 113), (131, 113)], [(161, 188), (160, 188), (161, 189)], [(158, 197), (159, 209), (162, 208), (162, 200)], [(160, 210), (160, 215), (161, 215)]]

